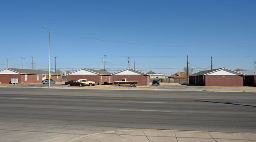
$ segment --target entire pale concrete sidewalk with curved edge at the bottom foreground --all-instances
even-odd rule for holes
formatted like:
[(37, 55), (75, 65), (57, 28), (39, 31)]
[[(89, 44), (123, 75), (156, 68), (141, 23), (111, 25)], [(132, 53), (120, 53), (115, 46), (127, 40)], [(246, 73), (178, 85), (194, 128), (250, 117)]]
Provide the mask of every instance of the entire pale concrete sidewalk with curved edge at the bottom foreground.
[(256, 142), (256, 134), (129, 130), (86, 135), (68, 142)]

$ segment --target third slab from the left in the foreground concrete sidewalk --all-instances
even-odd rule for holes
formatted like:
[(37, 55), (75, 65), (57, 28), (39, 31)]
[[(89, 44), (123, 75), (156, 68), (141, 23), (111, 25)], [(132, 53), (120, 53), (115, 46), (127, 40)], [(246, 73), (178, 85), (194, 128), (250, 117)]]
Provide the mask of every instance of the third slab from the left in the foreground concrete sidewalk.
[(174, 131), (144, 131), (150, 142), (177, 142)]

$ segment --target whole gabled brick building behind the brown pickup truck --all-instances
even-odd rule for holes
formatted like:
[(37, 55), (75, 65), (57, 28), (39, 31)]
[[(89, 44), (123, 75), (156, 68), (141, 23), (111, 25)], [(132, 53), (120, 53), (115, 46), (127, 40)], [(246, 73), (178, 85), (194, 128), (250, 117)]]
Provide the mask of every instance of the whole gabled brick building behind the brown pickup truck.
[(118, 71), (116, 73), (112, 73), (113, 75), (113, 85), (115, 81), (120, 81), (122, 78), (127, 78), (128, 81), (138, 80), (139, 86), (147, 86), (150, 81), (150, 75), (147, 73), (143, 73), (141, 71), (137, 71), (135, 69), (127, 68), (122, 71)]

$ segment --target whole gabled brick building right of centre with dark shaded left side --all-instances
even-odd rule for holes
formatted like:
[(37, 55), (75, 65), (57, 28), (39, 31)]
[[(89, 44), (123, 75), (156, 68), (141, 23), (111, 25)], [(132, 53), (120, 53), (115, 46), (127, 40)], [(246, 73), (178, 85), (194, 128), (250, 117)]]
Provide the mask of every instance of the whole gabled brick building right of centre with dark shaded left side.
[(243, 73), (227, 68), (200, 71), (189, 76), (189, 84), (201, 86), (243, 86)]

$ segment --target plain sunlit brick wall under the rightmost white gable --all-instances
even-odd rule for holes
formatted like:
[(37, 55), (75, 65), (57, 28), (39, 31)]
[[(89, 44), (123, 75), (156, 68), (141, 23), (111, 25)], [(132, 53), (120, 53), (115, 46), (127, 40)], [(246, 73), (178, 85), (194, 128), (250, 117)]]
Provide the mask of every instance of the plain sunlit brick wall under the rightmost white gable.
[(206, 75), (206, 86), (243, 86), (243, 75)]

